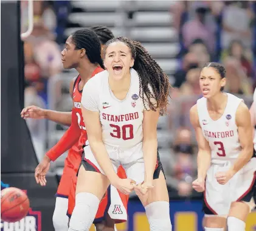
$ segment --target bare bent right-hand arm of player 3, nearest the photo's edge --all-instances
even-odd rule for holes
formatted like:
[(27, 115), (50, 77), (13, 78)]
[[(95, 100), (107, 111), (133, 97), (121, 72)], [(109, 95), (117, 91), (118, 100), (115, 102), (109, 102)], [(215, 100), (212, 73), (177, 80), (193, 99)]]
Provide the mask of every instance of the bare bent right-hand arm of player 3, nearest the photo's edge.
[(238, 138), (241, 144), (241, 153), (235, 160), (234, 165), (230, 167), (232, 174), (237, 173), (247, 162), (251, 159), (253, 154), (253, 142), (252, 142), (252, 123), (251, 115), (247, 106), (241, 102), (238, 106), (235, 120), (238, 127)]

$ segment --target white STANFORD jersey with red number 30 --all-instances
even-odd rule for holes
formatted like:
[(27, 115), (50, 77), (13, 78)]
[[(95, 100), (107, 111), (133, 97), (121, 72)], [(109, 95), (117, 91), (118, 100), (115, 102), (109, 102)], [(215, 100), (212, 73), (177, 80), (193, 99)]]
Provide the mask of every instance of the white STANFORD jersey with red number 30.
[[(122, 162), (128, 162), (135, 152), (143, 156), (142, 121), (145, 108), (139, 88), (139, 76), (134, 69), (131, 69), (131, 86), (124, 100), (117, 99), (109, 88), (107, 71), (95, 75), (83, 88), (81, 103), (89, 111), (99, 112), (103, 143), (111, 159), (120, 160), (121, 157)], [(117, 153), (116, 157), (111, 154), (113, 152)]]

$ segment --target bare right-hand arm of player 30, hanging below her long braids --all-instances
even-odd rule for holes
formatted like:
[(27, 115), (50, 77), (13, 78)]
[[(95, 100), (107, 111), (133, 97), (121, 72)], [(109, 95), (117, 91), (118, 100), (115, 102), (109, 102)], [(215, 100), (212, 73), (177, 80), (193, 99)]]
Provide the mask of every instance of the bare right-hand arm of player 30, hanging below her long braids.
[(153, 184), (153, 174), (157, 161), (157, 121), (159, 109), (156, 111), (144, 110), (143, 119), (143, 156), (145, 162), (145, 182)]

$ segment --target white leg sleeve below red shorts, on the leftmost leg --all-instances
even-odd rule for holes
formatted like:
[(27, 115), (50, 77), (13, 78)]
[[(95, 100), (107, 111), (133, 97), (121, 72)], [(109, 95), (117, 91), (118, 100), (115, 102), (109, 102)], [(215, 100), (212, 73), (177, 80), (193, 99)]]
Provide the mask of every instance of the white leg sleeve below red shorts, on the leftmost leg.
[(67, 216), (67, 204), (67, 198), (60, 198), (57, 196), (54, 215), (52, 216), (55, 231), (67, 231), (68, 229), (67, 223), (69, 222), (69, 218)]

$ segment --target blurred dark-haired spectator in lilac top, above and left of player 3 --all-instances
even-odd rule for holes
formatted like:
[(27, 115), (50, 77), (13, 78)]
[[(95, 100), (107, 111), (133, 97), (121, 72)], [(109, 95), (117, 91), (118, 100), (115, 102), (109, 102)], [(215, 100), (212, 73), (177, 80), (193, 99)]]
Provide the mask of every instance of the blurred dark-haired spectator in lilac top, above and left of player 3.
[(203, 5), (199, 6), (196, 8), (195, 18), (184, 24), (182, 36), (186, 48), (189, 47), (194, 40), (200, 38), (207, 44), (210, 52), (214, 52), (216, 24), (213, 21), (206, 20), (208, 13), (209, 8)]

